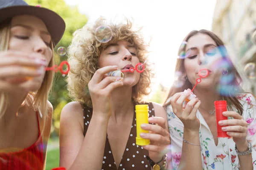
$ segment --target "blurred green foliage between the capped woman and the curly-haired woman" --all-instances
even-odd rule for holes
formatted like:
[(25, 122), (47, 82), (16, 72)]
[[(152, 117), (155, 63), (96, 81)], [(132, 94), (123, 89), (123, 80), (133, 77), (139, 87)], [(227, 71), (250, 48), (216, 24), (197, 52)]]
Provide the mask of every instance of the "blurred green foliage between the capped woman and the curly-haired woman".
[[(60, 64), (61, 61), (67, 60), (66, 56), (60, 56), (56, 53), (58, 47), (67, 48), (72, 41), (72, 34), (78, 28), (81, 28), (87, 23), (88, 18), (84, 14), (80, 14), (77, 6), (68, 6), (64, 0), (25, 0), (26, 3), (32, 6), (40, 5), (44, 8), (49, 8), (59, 14), (66, 23), (66, 30), (61, 41), (55, 47), (55, 62)], [(58, 135), (59, 119), (61, 110), (71, 99), (68, 96), (65, 77), (59, 72), (55, 75), (55, 81), (52, 87), (52, 92), (49, 96), (49, 101), (53, 105), (53, 130), (55, 135)], [(53, 136), (55, 136), (53, 135)]]

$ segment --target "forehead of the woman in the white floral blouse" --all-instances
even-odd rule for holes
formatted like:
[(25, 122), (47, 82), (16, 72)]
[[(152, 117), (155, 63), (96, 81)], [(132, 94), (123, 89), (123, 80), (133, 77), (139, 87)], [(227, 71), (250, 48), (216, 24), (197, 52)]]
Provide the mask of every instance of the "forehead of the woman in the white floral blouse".
[(206, 44), (214, 44), (217, 46), (216, 42), (209, 35), (199, 33), (189, 38), (186, 50), (192, 47), (204, 48)]

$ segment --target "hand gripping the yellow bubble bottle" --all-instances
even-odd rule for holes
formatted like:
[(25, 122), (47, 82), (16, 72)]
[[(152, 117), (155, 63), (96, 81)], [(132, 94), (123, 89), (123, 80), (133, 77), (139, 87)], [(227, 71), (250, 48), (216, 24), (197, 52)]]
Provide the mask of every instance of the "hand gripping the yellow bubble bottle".
[(150, 144), (143, 146), (143, 148), (148, 150), (150, 159), (154, 162), (159, 162), (163, 158), (163, 149), (171, 144), (170, 134), (166, 130), (166, 122), (162, 117), (150, 117), (148, 118), (148, 122), (154, 123), (155, 125), (141, 125), (141, 128), (149, 130), (149, 133), (140, 133), (140, 136), (150, 140)]

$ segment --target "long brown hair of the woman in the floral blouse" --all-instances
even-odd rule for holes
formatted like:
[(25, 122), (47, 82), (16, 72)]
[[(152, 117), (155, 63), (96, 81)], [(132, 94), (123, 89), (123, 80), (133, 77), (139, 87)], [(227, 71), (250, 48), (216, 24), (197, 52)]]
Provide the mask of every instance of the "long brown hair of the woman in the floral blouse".
[[(224, 47), (224, 42), (217, 36), (215, 35), (213, 32), (211, 31), (208, 31), (208, 30), (200, 30), (200, 31), (191, 31), (183, 41), (187, 42), (189, 40), (190, 37), (196, 35), (196, 34), (206, 34), (208, 35), (209, 37), (212, 38), (212, 40), (214, 40), (217, 44), (217, 46), (221, 46), (224, 48), (224, 50), (227, 50), (225, 47)], [(186, 46), (184, 47), (186, 48)], [(178, 54), (180, 54), (182, 51), (184, 51), (185, 49), (180, 49), (180, 51), (178, 51)], [(242, 79), (241, 79), (241, 76), (239, 75), (238, 71), (236, 70), (235, 66), (233, 65), (233, 63), (231, 62), (231, 60), (229, 58), (227, 58), (229, 60), (229, 63), (230, 63), (230, 66), (232, 67), (232, 71), (233, 73), (235, 74), (235, 79), (234, 81), (232, 82), (233, 84), (239, 86), (239, 91), (240, 92), (243, 92), (242, 88), (241, 88), (241, 82), (242, 82)], [(177, 63), (176, 63), (176, 67), (175, 67), (175, 71), (181, 71), (183, 73), (185, 73), (185, 68), (184, 68), (184, 59), (177, 59)], [(174, 86), (170, 89), (169, 91), (169, 94), (167, 96), (167, 99), (166, 99), (166, 102), (164, 104), (164, 106), (166, 105), (169, 105), (170, 102), (167, 102), (168, 99), (173, 96), (175, 93), (178, 93), (178, 92), (182, 92), (184, 91), (185, 89), (192, 89), (192, 85), (191, 83), (189, 82), (188, 79), (186, 79), (186, 82), (185, 84), (180, 87), (180, 88), (175, 88)], [(223, 100), (226, 100), (227, 101), (227, 104), (228, 104), (228, 108), (230, 110), (232, 110), (232, 106), (234, 106), (234, 108), (236, 108), (236, 110), (238, 111), (238, 113), (240, 115), (242, 115), (243, 113), (243, 106), (241, 105), (241, 103), (239, 102), (239, 100), (236, 98), (236, 96), (222, 96)]]

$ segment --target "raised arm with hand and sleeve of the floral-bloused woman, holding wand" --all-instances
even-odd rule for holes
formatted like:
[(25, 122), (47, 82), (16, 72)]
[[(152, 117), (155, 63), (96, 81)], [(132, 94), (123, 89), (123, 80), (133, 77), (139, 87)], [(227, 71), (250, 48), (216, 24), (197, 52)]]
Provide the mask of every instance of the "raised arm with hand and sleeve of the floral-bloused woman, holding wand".
[[(172, 106), (169, 105), (167, 109), (170, 112), (167, 112), (168, 115), (172, 113), (172, 118), (169, 120), (169, 130), (172, 142), (174, 142), (172, 143), (174, 146), (174, 150), (172, 150), (173, 162), (175, 162), (176, 166), (179, 166), (179, 170), (202, 170), (203, 164), (199, 140), (200, 121), (196, 117), (196, 112), (201, 102), (198, 99), (192, 99), (183, 108), (183, 102), (188, 96), (189, 94), (183, 92), (175, 94), (171, 99)], [(181, 130), (183, 130), (183, 135)], [(183, 138), (195, 145), (184, 143)], [(175, 153), (176, 151), (177, 153)], [(180, 151), (182, 153), (181, 156)]]

